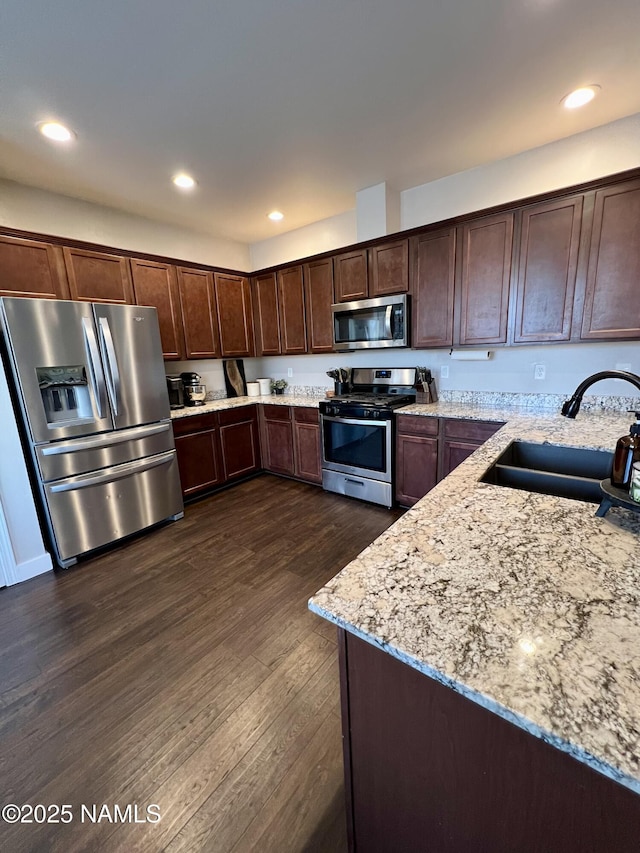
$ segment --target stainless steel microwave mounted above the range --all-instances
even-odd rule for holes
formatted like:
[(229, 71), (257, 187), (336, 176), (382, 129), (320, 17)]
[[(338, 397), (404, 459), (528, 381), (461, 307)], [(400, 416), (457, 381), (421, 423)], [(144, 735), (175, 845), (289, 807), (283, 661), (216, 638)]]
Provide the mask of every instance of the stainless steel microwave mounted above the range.
[(409, 346), (409, 297), (380, 296), (331, 306), (335, 350)]

